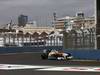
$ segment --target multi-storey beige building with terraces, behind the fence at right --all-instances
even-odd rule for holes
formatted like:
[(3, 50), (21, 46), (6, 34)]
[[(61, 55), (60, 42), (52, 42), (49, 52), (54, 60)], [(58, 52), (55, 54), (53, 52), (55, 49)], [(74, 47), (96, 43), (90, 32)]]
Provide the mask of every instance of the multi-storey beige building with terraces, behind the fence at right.
[(55, 29), (90, 29), (96, 28), (95, 17), (84, 17), (84, 14), (78, 13), (75, 17), (66, 16), (64, 18), (59, 18), (54, 23)]

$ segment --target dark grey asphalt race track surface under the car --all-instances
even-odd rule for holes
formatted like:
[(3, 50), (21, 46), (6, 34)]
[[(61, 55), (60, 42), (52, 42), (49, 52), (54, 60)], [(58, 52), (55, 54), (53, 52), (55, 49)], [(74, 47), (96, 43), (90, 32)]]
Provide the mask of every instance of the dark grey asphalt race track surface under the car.
[[(100, 66), (100, 61), (42, 60), (41, 53), (17, 53), (0, 55), (0, 64), (49, 65), (49, 66)], [(0, 70), (0, 75), (100, 75), (100, 72), (36, 71), (34, 69)]]

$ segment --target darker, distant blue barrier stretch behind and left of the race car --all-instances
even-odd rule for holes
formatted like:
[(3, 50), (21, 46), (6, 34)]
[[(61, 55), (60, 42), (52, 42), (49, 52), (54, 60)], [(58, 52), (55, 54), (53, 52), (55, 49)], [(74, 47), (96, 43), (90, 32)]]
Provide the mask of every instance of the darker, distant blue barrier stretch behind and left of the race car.
[(20, 52), (42, 52), (44, 49), (62, 50), (62, 46), (42, 46), (42, 47), (0, 47), (0, 54), (20, 53)]

